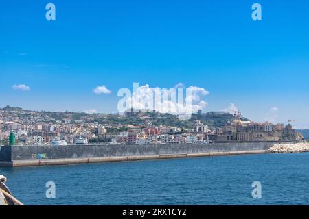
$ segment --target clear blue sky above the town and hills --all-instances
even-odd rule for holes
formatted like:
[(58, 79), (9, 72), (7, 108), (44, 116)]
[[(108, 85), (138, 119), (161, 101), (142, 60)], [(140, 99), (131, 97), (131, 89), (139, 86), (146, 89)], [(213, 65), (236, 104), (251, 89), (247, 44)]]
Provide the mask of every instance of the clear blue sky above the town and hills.
[[(183, 83), (209, 91), (204, 111), (233, 103), (251, 120), (308, 128), (308, 12), (306, 0), (5, 1), (0, 107), (117, 112), (119, 88)], [(102, 85), (111, 94), (93, 92)]]

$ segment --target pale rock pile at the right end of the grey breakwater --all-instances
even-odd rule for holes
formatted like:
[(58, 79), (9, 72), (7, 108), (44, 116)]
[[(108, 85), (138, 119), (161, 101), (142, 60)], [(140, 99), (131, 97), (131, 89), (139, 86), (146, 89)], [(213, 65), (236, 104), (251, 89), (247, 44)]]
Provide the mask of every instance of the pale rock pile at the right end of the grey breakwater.
[(309, 143), (286, 143), (286, 144), (274, 144), (268, 149), (271, 153), (300, 153), (309, 152)]

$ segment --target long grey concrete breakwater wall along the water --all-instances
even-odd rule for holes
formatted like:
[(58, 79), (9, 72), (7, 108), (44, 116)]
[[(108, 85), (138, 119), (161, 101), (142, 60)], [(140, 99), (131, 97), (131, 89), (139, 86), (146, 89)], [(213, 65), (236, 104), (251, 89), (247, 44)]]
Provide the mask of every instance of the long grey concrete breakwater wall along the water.
[(169, 159), (267, 153), (275, 142), (228, 142), (213, 144), (1, 146), (0, 166), (87, 164), (142, 159)]

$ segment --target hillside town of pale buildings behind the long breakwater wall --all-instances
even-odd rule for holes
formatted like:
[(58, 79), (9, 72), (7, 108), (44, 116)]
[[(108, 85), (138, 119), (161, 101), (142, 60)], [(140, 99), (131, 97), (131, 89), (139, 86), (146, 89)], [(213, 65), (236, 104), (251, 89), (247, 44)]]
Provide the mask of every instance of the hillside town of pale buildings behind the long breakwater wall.
[[(213, 113), (214, 114), (214, 113)], [(216, 112), (217, 115), (227, 113)], [(35, 112), (16, 107), (0, 109), (1, 145), (67, 145), (67, 144), (211, 144), (211, 142), (292, 142), (302, 140), (291, 123), (255, 123), (244, 119), (240, 112), (228, 115), (231, 120), (220, 127), (209, 126), (203, 120), (201, 110), (196, 120), (185, 126), (147, 123), (124, 124), (135, 117), (159, 117), (155, 112), (128, 112), (124, 115), (82, 114), (65, 112)], [(63, 116), (64, 115), (64, 116)], [(98, 116), (100, 119), (98, 119)], [(202, 120), (199, 120), (201, 118)], [(175, 118), (176, 119), (176, 118)]]

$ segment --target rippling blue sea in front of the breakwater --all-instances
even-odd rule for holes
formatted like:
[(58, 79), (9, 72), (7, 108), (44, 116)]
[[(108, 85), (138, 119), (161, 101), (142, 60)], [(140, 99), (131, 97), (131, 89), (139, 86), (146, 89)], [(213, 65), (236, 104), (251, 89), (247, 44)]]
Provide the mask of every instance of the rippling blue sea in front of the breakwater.
[[(0, 168), (25, 205), (309, 205), (309, 153)], [(53, 181), (56, 198), (46, 198)], [(262, 185), (253, 198), (252, 183)]]

